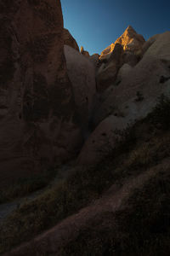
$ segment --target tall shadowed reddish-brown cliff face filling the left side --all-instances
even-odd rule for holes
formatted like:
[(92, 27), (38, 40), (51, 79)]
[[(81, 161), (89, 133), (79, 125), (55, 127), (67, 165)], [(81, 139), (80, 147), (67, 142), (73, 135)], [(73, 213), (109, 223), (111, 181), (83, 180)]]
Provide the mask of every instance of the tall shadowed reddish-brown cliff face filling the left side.
[(81, 136), (73, 121), (59, 0), (3, 0), (0, 15), (0, 180), (5, 183), (54, 159), (68, 159)]

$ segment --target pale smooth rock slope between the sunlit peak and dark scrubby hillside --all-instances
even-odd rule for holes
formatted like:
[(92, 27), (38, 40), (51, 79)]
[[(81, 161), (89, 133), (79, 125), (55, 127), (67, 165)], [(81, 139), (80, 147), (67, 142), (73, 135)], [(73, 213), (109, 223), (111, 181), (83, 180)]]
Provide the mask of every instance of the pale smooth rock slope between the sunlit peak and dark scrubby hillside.
[[(150, 40), (150, 39), (149, 39)], [(170, 32), (156, 37), (135, 67), (123, 66), (119, 83), (105, 92), (94, 113), (97, 126), (79, 155), (79, 163), (94, 164), (116, 145), (116, 131), (144, 118), (161, 94), (170, 96)], [(89, 157), (90, 155), (90, 157)]]

